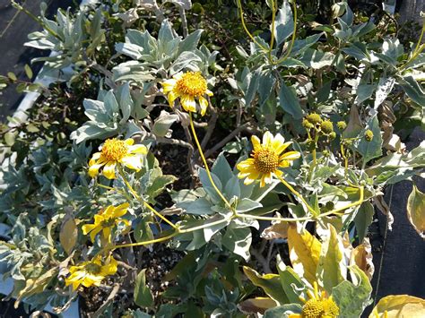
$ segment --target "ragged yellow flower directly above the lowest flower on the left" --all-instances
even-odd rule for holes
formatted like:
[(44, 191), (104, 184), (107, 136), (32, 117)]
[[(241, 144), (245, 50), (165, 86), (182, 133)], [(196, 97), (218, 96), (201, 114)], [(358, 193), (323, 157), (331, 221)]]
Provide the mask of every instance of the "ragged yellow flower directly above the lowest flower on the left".
[(124, 223), (126, 227), (130, 225), (127, 219), (121, 219), (126, 214), (129, 204), (123, 203), (117, 207), (109, 205), (105, 211), (100, 210), (98, 214), (94, 216), (94, 224), (85, 224), (82, 226), (82, 233), (84, 235), (89, 234), (91, 241), (94, 242), (94, 237), (102, 231), (103, 237), (109, 240), (111, 229), (119, 223)]

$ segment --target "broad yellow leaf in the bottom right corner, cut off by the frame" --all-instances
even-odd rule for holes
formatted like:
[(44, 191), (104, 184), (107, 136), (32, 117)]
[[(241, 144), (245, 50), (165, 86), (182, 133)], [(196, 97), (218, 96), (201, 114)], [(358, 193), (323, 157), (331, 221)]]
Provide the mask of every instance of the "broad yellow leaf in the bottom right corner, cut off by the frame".
[(369, 318), (423, 318), (425, 299), (409, 295), (390, 295), (379, 300)]

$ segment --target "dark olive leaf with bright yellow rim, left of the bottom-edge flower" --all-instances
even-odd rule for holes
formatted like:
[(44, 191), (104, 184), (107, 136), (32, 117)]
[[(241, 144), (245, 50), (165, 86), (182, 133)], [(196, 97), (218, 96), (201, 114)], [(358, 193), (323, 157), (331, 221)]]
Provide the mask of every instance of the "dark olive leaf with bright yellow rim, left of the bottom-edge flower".
[(282, 283), (279, 275), (265, 274), (260, 275), (257, 271), (250, 267), (244, 266), (245, 275), (251, 282), (259, 288), (262, 288), (269, 297), (275, 300), (278, 304), (288, 304), (289, 300), (286, 297), (285, 291), (282, 288)]

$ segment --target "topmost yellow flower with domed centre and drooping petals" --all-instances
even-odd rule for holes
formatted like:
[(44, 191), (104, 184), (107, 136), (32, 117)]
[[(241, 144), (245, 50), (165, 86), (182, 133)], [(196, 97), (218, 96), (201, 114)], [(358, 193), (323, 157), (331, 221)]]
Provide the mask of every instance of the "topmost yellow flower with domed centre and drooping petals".
[(197, 99), (201, 108), (201, 115), (204, 116), (208, 107), (208, 100), (205, 95), (212, 96), (212, 91), (208, 90), (206, 80), (199, 72), (178, 73), (172, 79), (161, 83), (162, 92), (168, 95), (169, 106), (174, 106), (174, 101), (180, 98), (181, 106), (187, 112), (196, 112)]

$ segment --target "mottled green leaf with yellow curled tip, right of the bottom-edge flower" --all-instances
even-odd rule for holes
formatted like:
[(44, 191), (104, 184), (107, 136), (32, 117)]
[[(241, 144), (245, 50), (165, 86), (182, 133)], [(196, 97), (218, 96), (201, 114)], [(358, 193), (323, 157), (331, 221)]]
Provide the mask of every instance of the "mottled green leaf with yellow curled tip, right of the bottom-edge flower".
[(368, 276), (357, 265), (351, 266), (351, 272), (354, 283), (344, 280), (332, 289), (332, 297), (340, 308), (341, 318), (360, 317), (371, 303), (372, 286)]

